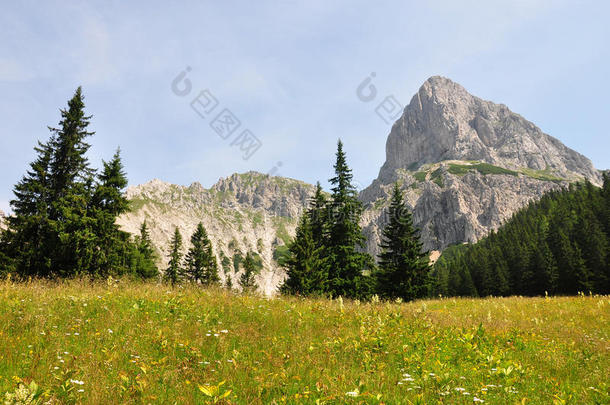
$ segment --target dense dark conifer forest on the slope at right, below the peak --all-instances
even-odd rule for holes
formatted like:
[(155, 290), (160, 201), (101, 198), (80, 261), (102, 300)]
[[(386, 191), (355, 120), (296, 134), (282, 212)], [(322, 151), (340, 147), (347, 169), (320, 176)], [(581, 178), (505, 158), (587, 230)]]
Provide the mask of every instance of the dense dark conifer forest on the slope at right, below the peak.
[(447, 249), (433, 270), (433, 295), (607, 294), (610, 178), (544, 195), (498, 231)]

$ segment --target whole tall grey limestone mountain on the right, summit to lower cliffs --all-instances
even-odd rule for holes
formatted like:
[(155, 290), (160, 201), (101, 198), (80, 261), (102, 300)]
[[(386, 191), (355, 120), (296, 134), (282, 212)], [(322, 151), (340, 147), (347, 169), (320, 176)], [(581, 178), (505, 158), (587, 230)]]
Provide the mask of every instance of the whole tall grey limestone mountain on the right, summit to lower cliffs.
[(476, 241), (543, 193), (572, 181), (601, 184), (591, 161), (533, 123), (431, 77), (394, 123), (386, 162), (363, 190), (368, 250), (377, 252), (383, 208), (399, 181), (425, 247)]

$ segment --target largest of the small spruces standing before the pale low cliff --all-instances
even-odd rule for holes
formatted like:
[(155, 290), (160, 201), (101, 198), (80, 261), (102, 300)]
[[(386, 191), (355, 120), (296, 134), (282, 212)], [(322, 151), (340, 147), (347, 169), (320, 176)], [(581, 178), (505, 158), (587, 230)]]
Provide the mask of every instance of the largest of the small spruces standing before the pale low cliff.
[(212, 242), (200, 222), (191, 236), (191, 248), (186, 255), (186, 275), (194, 281), (203, 285), (217, 284), (218, 263), (212, 251)]

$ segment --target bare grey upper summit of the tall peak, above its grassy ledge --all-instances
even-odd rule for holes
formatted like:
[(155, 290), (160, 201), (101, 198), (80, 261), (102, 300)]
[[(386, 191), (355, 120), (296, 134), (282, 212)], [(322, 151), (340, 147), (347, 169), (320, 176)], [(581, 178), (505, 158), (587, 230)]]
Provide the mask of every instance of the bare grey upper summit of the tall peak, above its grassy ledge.
[(570, 180), (586, 177), (595, 184), (601, 181), (589, 159), (505, 105), (482, 100), (450, 79), (433, 76), (392, 127), (379, 179), (391, 182), (397, 169), (447, 160), (545, 170)]

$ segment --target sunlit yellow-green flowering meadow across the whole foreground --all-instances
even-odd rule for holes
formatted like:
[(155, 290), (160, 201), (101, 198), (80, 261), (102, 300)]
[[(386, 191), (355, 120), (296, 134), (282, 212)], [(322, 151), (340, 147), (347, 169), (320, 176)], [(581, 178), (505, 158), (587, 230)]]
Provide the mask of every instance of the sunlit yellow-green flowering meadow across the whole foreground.
[(609, 297), (367, 304), (0, 282), (0, 395), (35, 381), (50, 403), (602, 404), (609, 315)]

